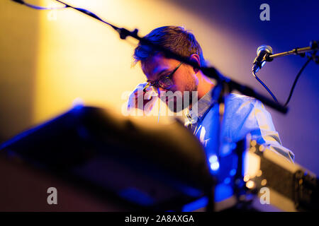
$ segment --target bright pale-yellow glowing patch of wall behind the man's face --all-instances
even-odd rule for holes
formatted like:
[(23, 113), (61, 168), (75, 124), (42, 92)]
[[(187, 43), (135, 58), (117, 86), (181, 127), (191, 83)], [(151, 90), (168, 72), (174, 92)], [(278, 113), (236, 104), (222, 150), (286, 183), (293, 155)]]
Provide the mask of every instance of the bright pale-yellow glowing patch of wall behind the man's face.
[[(86, 8), (119, 27), (140, 28), (141, 36), (160, 25), (186, 23), (186, 28), (198, 28), (198, 24), (202, 24), (196, 15), (164, 1), (66, 2)], [(48, 0), (43, 0), (41, 5), (51, 6)], [(150, 11), (150, 8), (157, 10)], [(72, 8), (35, 13), (40, 14), (33, 105), (35, 121), (43, 121), (69, 109), (76, 98), (82, 99), (84, 105), (106, 107), (121, 113), (128, 93), (145, 81), (139, 65), (131, 68), (137, 42), (121, 40), (112, 28)], [(163, 18), (163, 14), (174, 16)], [(167, 111), (162, 105), (161, 121), (168, 118)], [(153, 112), (151, 116), (157, 120), (159, 105)]]

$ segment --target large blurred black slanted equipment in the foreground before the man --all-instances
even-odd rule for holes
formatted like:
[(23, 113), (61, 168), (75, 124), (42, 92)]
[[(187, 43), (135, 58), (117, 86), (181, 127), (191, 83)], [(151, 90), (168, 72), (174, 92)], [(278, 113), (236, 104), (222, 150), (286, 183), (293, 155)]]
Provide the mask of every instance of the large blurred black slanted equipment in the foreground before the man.
[(178, 121), (149, 124), (94, 107), (76, 106), (0, 149), (91, 193), (133, 203), (128, 210), (182, 206), (212, 181), (201, 143)]

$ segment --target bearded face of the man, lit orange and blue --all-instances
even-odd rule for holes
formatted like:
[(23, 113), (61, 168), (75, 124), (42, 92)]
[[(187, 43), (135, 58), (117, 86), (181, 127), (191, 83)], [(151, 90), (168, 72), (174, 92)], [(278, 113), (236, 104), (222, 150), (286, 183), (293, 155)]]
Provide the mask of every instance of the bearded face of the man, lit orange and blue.
[[(150, 58), (145, 64), (142, 64), (142, 71), (145, 73), (147, 82), (155, 82), (172, 73), (180, 63), (180, 61), (175, 59), (168, 59), (163, 57), (162, 54), (157, 54)], [(188, 107), (187, 100), (186, 104), (184, 104), (185, 98), (189, 98), (189, 103), (192, 102), (192, 92), (197, 91), (198, 78), (193, 67), (187, 64), (181, 64), (171, 79), (173, 82), (171, 88), (164, 89), (157, 86), (155, 89), (159, 97), (162, 96), (161, 100), (166, 103), (172, 112), (179, 112), (181, 109)], [(169, 91), (174, 95), (169, 95)], [(163, 97), (165, 94), (166, 97)]]

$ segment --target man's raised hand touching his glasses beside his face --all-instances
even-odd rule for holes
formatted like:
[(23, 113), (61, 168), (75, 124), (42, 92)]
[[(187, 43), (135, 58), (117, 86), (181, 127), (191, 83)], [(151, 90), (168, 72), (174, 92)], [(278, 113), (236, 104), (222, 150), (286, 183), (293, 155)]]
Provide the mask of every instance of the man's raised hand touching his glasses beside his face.
[(150, 113), (157, 100), (157, 93), (150, 86), (145, 88), (146, 85), (147, 83), (140, 83), (130, 93), (128, 97), (128, 111), (138, 108), (142, 109), (146, 114)]

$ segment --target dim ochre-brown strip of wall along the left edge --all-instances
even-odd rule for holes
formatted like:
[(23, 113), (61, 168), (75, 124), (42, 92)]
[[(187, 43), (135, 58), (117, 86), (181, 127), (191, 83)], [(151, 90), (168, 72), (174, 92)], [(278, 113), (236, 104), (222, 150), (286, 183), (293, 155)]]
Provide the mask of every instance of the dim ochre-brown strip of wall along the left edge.
[(39, 14), (0, 1), (0, 141), (33, 121)]

